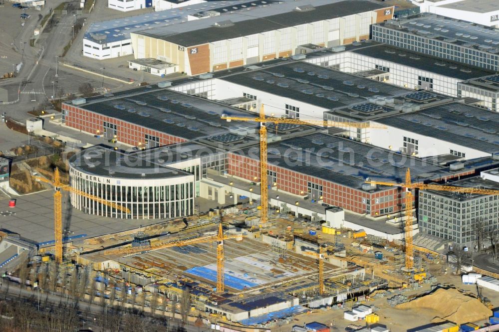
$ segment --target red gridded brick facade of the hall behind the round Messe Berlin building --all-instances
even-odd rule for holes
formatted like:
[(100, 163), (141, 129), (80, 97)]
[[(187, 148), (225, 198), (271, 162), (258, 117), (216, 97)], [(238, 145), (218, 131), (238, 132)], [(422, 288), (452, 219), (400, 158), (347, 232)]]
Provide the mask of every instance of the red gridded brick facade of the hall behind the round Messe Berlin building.
[(117, 127), (116, 139), (119, 142), (132, 146), (144, 146), (146, 144), (146, 134), (158, 137), (160, 145), (170, 145), (186, 141), (177, 136), (167, 135), (127, 121), (106, 117), (79, 107), (62, 104), (62, 109), (66, 112), (66, 115), (64, 116), (64, 123), (66, 126), (93, 135), (103, 135), (105, 132), (104, 122), (115, 124)]

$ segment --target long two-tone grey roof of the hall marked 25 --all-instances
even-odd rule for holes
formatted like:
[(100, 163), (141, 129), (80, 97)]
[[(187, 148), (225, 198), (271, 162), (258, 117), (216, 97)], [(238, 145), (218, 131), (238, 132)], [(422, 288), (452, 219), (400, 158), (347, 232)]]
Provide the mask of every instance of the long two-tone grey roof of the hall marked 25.
[[(310, 5), (313, 5), (313, 10), (295, 10), (297, 7)], [(298, 0), (256, 8), (251, 11), (251, 15), (235, 13), (209, 17), (190, 21), (189, 24), (176, 24), (136, 33), (187, 47), (384, 7), (386, 6), (370, 0)], [(228, 20), (230, 22), (227, 22)], [(222, 26), (214, 26), (215, 23), (220, 23)], [(226, 23), (228, 24), (224, 26)]]

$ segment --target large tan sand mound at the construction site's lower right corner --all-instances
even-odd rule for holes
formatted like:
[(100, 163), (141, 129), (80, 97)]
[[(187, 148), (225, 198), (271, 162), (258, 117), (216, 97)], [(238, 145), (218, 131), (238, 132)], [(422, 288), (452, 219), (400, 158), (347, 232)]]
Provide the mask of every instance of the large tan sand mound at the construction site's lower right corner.
[(402, 310), (430, 312), (432, 323), (451, 321), (457, 324), (486, 320), (492, 311), (478, 299), (464, 295), (456, 289), (438, 289), (435, 292), (397, 305)]

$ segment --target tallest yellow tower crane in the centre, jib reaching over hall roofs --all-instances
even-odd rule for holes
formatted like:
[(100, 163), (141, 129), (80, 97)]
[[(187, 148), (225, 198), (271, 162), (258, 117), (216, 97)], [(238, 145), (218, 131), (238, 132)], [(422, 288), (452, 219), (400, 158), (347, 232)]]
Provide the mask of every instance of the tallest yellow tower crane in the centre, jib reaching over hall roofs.
[(263, 105), (260, 106), (259, 117), (233, 117), (228, 115), (222, 115), (222, 119), (228, 122), (232, 120), (237, 121), (250, 121), (260, 123), (260, 204), (261, 204), (261, 215), (260, 223), (264, 224), (267, 222), (268, 214), (268, 188), (267, 188), (267, 129), (265, 124), (267, 122), (273, 124), (293, 124), (293, 125), (314, 125), (322, 127), (354, 127), (354, 128), (380, 128), (384, 129), (386, 126), (383, 125), (371, 125), (369, 123), (357, 123), (357, 122), (336, 122), (328, 120), (298, 120), (289, 118), (267, 118), (265, 112), (263, 111)]

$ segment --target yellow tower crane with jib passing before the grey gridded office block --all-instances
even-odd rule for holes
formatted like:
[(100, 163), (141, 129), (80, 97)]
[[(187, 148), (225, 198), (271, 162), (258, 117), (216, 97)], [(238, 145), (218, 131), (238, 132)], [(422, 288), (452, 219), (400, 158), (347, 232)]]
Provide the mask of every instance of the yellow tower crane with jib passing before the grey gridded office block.
[(395, 182), (384, 182), (384, 181), (372, 181), (366, 180), (367, 183), (387, 185), (387, 186), (399, 186), (404, 188), (406, 191), (406, 208), (405, 208), (405, 267), (408, 271), (413, 269), (414, 266), (414, 247), (412, 242), (412, 209), (413, 209), (413, 195), (411, 190), (414, 188), (423, 190), (436, 190), (436, 191), (453, 191), (462, 193), (474, 193), (482, 195), (499, 195), (499, 190), (490, 189), (479, 189), (473, 187), (456, 187), (451, 185), (439, 185), (439, 184), (425, 184), (416, 182), (411, 182), (411, 171), (409, 168), (406, 170), (405, 183), (395, 183)]

